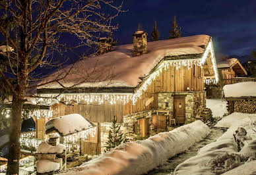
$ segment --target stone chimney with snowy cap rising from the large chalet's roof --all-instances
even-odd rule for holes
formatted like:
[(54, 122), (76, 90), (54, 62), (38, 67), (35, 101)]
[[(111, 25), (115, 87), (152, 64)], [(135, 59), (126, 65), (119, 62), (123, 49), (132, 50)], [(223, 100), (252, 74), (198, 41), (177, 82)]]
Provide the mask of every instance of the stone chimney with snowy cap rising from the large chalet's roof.
[(144, 31), (137, 31), (133, 34), (133, 57), (146, 53), (148, 34)]

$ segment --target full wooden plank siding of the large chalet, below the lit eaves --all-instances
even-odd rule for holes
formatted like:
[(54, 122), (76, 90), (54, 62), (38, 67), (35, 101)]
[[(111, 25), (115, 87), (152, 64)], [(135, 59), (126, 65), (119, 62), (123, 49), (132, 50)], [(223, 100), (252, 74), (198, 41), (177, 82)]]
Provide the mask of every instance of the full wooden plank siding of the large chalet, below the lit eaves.
[[(121, 101), (117, 101), (114, 105), (111, 105), (108, 101), (105, 101), (102, 105), (65, 106), (59, 104), (53, 105), (53, 116), (79, 113), (91, 122), (111, 122), (115, 115), (117, 116), (117, 122), (123, 122), (123, 115), (157, 109), (158, 93), (160, 92), (187, 91), (187, 88), (193, 89), (193, 91), (203, 91), (205, 88), (203, 76), (202, 68), (197, 65), (190, 69), (181, 66), (177, 70), (174, 66), (170, 66), (156, 77), (135, 105), (132, 101), (125, 105)], [(146, 101), (151, 97), (154, 97), (154, 100), (146, 106)]]

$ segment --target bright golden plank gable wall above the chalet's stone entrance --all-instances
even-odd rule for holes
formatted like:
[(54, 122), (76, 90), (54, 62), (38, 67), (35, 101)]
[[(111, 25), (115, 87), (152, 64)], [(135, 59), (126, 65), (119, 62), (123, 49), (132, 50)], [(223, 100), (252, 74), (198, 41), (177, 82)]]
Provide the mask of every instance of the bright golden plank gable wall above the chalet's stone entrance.
[[(203, 70), (200, 66), (194, 65), (193, 68), (187, 69), (182, 66), (177, 69), (173, 66), (163, 70), (160, 75), (148, 86), (141, 99), (138, 99), (136, 105), (129, 102), (123, 109), (124, 115), (141, 112), (149, 109), (157, 109), (159, 92), (187, 91), (187, 88), (193, 91), (203, 91), (205, 83), (203, 80)], [(146, 100), (154, 96), (154, 101), (145, 106)]]

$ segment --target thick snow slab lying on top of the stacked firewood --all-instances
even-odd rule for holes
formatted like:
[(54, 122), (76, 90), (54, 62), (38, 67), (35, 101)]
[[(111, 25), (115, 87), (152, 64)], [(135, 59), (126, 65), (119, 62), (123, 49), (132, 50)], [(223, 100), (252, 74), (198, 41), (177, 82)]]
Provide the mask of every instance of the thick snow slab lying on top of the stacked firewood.
[(256, 82), (241, 82), (223, 87), (225, 97), (256, 97)]

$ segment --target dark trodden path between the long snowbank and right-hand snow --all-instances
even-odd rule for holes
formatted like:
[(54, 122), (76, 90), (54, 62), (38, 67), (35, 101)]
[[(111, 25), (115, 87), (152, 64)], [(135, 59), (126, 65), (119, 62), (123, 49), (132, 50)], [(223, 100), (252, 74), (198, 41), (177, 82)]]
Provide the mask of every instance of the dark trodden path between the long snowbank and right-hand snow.
[(158, 174), (158, 175), (164, 175), (164, 174), (172, 174), (174, 172), (174, 169), (178, 164), (181, 164), (181, 162), (184, 162), (185, 160), (189, 159), (190, 157), (193, 157), (197, 155), (197, 151), (201, 149), (201, 147), (204, 147), (208, 143), (212, 143), (218, 139), (218, 137), (222, 136), (222, 134), (225, 132), (221, 128), (215, 128), (213, 127), (216, 122), (213, 122), (211, 124), (208, 124), (210, 128), (210, 133), (208, 134), (205, 139), (195, 143), (192, 147), (190, 147), (187, 151), (180, 153), (176, 155), (176, 157), (172, 157), (171, 159), (168, 159), (164, 164), (158, 166), (157, 168), (154, 168), (153, 170), (150, 170), (148, 174)]

